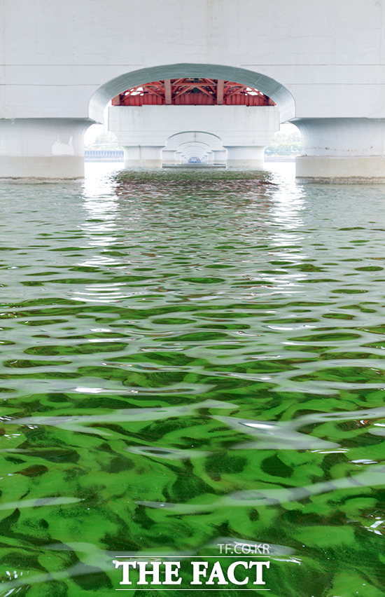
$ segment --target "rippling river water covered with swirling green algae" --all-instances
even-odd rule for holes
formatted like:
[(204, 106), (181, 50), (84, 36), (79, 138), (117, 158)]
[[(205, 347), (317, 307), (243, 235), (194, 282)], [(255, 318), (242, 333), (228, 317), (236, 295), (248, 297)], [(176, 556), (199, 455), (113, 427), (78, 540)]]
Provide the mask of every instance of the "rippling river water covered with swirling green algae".
[(383, 596), (385, 187), (92, 166), (0, 186), (0, 595)]

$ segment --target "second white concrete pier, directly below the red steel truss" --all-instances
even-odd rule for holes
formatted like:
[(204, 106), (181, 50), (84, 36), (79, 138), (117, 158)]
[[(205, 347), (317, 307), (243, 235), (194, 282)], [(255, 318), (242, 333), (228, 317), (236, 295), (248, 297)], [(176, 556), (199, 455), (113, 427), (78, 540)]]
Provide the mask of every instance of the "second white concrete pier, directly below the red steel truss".
[(260, 168), (265, 146), (279, 130), (279, 111), (274, 106), (110, 107), (109, 130), (125, 150), (127, 167), (160, 167), (167, 138), (190, 130), (221, 139), (228, 166)]

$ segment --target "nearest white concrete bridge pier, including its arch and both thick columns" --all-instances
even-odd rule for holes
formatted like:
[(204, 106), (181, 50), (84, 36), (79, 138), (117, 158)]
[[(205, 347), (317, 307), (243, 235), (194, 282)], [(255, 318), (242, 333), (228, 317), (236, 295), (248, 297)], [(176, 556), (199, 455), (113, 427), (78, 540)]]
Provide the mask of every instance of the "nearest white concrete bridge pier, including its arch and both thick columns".
[(84, 132), (113, 97), (209, 77), (257, 88), (300, 128), (300, 179), (383, 182), (383, 4), (3, 0), (0, 177), (82, 177)]

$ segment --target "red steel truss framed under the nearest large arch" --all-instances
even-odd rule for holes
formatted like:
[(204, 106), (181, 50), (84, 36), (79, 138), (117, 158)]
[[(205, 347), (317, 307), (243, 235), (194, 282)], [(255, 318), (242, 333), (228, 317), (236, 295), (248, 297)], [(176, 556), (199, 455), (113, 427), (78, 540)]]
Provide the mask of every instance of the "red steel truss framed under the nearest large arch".
[(212, 78), (168, 78), (138, 85), (112, 100), (113, 106), (275, 106), (257, 89)]

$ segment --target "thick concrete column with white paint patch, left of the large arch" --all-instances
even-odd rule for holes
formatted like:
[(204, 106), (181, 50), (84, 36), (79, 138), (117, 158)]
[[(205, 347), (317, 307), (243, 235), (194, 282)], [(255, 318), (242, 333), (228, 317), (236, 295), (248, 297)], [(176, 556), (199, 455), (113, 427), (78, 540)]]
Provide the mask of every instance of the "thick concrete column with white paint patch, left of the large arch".
[(83, 118), (1, 118), (0, 179), (84, 177)]

